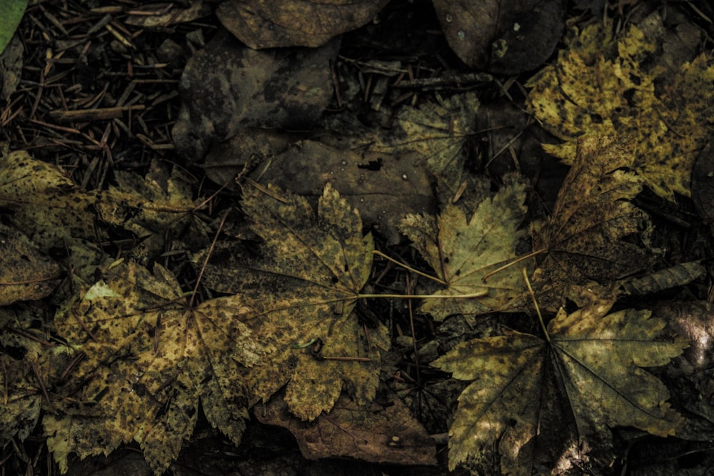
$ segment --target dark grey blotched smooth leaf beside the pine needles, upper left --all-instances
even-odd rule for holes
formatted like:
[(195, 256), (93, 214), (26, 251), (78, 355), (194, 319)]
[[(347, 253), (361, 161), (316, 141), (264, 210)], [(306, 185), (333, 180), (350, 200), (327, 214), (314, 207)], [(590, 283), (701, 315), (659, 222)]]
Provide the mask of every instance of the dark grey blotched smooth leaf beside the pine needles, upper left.
[(176, 151), (200, 161), (243, 128), (311, 128), (332, 97), (330, 61), (338, 48), (331, 41), (317, 49), (255, 51), (217, 34), (181, 75)]

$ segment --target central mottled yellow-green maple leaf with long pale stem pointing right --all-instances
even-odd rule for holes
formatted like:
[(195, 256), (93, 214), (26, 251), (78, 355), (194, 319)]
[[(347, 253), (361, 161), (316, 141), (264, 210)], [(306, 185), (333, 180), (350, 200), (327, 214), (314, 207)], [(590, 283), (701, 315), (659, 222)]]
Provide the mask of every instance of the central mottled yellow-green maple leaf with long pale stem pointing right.
[(206, 280), (239, 293), (256, 310), (246, 322), (266, 348), (261, 365), (243, 370), (255, 399), (287, 383), (294, 415), (312, 420), (346, 390), (362, 405), (379, 380), (383, 325), (366, 328), (353, 313), (372, 265), (371, 235), (356, 209), (328, 183), (317, 214), (306, 198), (275, 187), (248, 186), (243, 211), (263, 238), (261, 256), (216, 260)]

